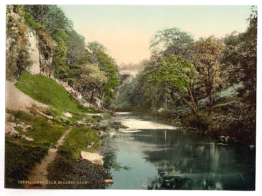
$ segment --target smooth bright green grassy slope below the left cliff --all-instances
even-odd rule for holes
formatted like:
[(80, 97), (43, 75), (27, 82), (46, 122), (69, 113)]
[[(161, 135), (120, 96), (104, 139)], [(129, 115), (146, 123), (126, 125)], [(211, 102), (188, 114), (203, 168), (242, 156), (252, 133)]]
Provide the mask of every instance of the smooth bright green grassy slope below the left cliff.
[(19, 77), (19, 81), (15, 83), (15, 86), (32, 99), (49, 105), (52, 112), (58, 116), (61, 116), (63, 112), (77, 114), (99, 113), (99, 111), (92, 108), (84, 108), (55, 80), (42, 74), (33, 75), (26, 72)]

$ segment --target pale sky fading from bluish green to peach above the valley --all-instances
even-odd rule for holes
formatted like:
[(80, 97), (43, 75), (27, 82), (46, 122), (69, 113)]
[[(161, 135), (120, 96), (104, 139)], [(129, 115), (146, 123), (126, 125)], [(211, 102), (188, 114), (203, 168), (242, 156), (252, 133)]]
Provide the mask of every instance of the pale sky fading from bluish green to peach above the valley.
[(150, 57), (149, 40), (158, 29), (179, 27), (195, 39), (244, 32), (251, 13), (244, 5), (59, 5), (74, 29), (111, 51), (117, 64)]

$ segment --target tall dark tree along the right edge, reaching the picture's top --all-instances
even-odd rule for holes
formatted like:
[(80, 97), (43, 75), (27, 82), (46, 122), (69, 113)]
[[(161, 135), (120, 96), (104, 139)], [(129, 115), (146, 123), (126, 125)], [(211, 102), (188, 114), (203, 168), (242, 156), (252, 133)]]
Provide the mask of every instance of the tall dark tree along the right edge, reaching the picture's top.
[(225, 39), (222, 62), (226, 66), (232, 84), (242, 84), (238, 89), (252, 106), (256, 103), (256, 58), (257, 58), (257, 9), (252, 6), (249, 26), (244, 33)]

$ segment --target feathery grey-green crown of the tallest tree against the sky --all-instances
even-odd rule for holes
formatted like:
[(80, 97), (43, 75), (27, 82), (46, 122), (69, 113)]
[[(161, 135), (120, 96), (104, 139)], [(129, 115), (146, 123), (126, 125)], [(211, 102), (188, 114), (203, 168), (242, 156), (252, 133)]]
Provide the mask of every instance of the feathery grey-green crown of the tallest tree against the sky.
[(164, 28), (156, 31), (150, 39), (150, 47), (152, 55), (183, 55), (190, 58), (193, 46), (193, 35), (180, 28)]

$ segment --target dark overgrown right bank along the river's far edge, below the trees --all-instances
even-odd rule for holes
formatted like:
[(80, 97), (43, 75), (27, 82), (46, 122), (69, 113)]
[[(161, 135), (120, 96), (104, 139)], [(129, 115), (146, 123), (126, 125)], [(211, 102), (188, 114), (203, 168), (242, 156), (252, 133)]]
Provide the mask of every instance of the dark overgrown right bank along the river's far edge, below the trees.
[[(148, 108), (135, 108), (133, 106), (118, 107), (116, 112), (142, 112), (152, 117), (153, 111)], [(194, 114), (177, 116), (171, 113), (156, 112), (156, 117), (163, 121), (181, 122), (182, 127), (190, 128), (195, 132), (205, 133), (221, 140), (241, 142), (255, 145), (256, 121), (255, 109), (250, 108), (243, 98), (225, 98), (212, 105), (211, 116), (208, 116), (208, 108), (199, 110), (200, 117)]]

